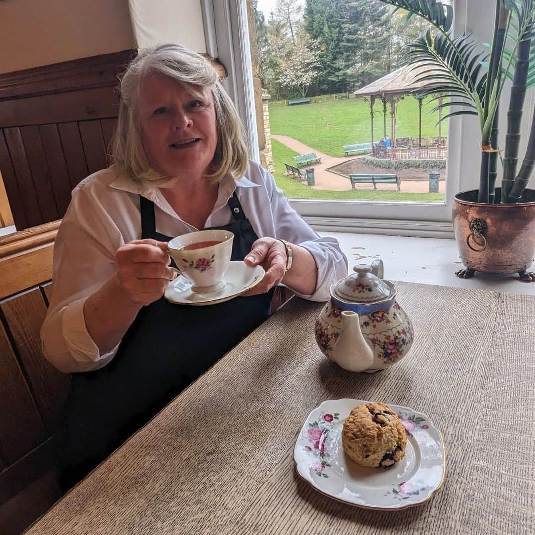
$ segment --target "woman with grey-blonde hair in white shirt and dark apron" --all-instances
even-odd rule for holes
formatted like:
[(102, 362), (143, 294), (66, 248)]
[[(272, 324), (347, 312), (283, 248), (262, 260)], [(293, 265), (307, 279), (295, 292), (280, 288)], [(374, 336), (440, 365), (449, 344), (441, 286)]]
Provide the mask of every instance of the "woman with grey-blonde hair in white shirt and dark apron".
[[(173, 44), (140, 52), (121, 97), (116, 163), (73, 191), (41, 330), (45, 357), (75, 372), (60, 433), (65, 488), (266, 319), (278, 284), (321, 301), (347, 274), (338, 242), (320, 239), (247, 161), (238, 115), (202, 56)], [(265, 277), (225, 303), (169, 303), (167, 241), (204, 228), (232, 231), (232, 259)]]

